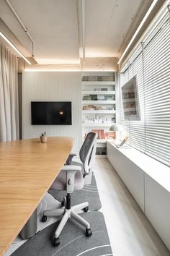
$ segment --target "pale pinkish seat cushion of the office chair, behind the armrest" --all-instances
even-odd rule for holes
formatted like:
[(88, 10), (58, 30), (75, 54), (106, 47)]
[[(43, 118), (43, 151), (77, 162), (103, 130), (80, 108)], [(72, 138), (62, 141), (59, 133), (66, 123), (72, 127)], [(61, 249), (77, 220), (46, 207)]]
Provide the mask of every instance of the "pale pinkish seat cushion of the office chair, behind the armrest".
[[(66, 171), (60, 171), (57, 178), (51, 185), (50, 189), (55, 190), (66, 190), (66, 183), (67, 183), (67, 177), (66, 177)], [(74, 177), (74, 187), (73, 190), (79, 190), (84, 187), (84, 177), (81, 173), (81, 171), (76, 171), (75, 177)]]

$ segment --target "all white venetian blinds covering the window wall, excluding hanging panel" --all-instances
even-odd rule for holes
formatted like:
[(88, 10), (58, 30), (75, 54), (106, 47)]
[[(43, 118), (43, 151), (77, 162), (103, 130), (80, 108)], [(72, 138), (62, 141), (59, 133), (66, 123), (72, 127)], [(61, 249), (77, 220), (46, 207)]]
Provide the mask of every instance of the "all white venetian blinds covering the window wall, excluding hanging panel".
[(141, 121), (120, 120), (130, 145), (170, 166), (170, 23), (166, 13), (120, 72), (120, 87), (137, 75)]

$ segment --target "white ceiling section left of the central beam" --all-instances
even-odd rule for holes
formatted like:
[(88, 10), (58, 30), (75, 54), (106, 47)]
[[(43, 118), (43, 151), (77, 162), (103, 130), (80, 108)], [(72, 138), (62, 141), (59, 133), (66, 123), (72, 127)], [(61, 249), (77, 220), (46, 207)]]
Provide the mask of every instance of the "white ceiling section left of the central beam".
[[(35, 40), (35, 59), (52, 63), (79, 62), (79, 35), (76, 0), (10, 0)], [(2, 20), (19, 37), (18, 26), (10, 17)]]

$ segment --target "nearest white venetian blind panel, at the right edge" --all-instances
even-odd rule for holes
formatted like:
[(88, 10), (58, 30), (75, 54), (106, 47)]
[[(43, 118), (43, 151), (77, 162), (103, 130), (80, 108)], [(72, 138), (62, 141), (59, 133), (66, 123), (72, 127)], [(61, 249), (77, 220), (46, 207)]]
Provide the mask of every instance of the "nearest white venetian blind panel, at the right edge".
[[(166, 14), (144, 48), (145, 152), (170, 165), (170, 25)], [(148, 43), (148, 45), (147, 45)]]

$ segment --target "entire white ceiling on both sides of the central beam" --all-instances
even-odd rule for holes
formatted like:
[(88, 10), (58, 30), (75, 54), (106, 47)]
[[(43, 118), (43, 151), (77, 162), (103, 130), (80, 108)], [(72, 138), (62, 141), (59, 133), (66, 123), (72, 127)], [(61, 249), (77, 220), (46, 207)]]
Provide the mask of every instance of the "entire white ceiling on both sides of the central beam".
[[(119, 57), (125, 42), (152, 0), (85, 0), (85, 30), (81, 0), (9, 0), (35, 40), (39, 64), (79, 64), (81, 35), (86, 57)], [(5, 0), (0, 17), (31, 53), (31, 42)]]

